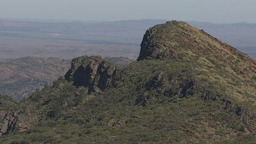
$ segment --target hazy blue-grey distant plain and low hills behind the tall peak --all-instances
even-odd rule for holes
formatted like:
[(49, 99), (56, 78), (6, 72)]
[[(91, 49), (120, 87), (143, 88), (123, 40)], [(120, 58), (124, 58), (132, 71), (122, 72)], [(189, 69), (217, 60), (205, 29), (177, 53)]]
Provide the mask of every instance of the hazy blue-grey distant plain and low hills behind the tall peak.
[[(145, 30), (166, 21), (46, 23), (1, 20), (0, 57), (33, 55), (72, 59), (82, 55), (102, 55), (136, 59)], [(188, 23), (256, 58), (256, 24)]]

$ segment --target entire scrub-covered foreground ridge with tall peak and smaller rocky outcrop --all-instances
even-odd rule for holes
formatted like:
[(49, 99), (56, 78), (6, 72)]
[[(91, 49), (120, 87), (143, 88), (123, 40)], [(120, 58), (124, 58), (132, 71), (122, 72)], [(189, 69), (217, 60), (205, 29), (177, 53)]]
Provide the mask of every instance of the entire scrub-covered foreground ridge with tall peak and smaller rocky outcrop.
[(29, 98), (1, 96), (0, 142), (256, 143), (255, 87), (253, 59), (170, 21), (147, 30), (128, 66), (78, 57)]

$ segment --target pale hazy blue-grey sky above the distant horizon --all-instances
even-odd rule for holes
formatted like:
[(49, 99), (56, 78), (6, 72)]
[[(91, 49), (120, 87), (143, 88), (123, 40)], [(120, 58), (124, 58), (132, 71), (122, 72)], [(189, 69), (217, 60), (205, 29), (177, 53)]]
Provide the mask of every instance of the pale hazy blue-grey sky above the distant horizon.
[(0, 0), (0, 18), (256, 23), (256, 0)]

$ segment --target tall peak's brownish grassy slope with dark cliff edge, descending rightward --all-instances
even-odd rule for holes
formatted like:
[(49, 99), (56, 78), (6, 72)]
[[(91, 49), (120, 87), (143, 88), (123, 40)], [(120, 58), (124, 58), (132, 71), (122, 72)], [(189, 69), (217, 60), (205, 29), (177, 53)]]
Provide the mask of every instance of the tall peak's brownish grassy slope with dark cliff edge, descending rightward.
[(195, 61), (202, 65), (195, 68), (197, 78), (219, 83), (216, 86), (225, 88), (236, 100), (246, 101), (248, 97), (242, 93), (256, 95), (255, 60), (187, 23), (171, 21), (149, 29), (141, 43), (138, 60), (143, 59)]

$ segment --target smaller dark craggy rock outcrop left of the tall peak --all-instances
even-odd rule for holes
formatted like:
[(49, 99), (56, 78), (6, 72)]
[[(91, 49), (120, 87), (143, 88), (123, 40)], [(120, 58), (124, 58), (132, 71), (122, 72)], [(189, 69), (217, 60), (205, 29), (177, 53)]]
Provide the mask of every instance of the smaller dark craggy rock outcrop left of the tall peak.
[(72, 60), (72, 66), (65, 75), (67, 81), (75, 86), (88, 88), (88, 92), (98, 92), (111, 87), (117, 67), (100, 56), (78, 57)]

